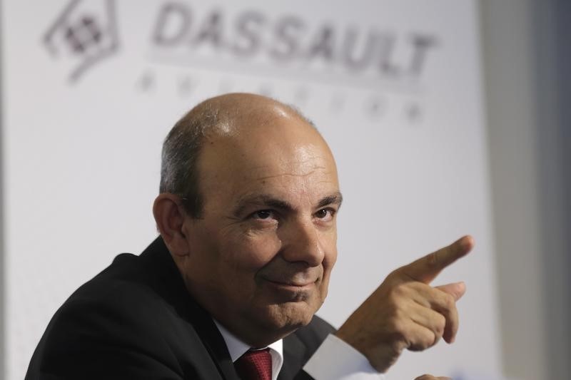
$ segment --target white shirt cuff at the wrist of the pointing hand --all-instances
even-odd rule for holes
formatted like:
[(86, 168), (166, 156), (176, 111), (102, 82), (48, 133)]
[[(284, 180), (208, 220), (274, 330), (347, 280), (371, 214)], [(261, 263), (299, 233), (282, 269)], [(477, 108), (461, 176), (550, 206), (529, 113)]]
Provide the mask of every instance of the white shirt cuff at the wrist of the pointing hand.
[(315, 380), (384, 380), (363, 354), (329, 334), (303, 366)]

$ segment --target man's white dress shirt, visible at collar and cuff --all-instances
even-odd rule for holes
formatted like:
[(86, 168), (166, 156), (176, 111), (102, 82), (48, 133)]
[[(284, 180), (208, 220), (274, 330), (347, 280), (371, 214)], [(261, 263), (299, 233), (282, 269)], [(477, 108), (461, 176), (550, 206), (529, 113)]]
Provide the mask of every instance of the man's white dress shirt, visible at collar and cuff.
[[(238, 360), (246, 354), (251, 346), (236, 338), (225, 327), (214, 321), (218, 331), (226, 342), (228, 353), (232, 361)], [(268, 345), (272, 356), (272, 380), (278, 379), (281, 366), (283, 365), (283, 341), (282, 339)], [(383, 380), (383, 374), (379, 374), (363, 354), (354, 349), (343, 340), (329, 334), (309, 361), (303, 366), (303, 370), (316, 380)]]

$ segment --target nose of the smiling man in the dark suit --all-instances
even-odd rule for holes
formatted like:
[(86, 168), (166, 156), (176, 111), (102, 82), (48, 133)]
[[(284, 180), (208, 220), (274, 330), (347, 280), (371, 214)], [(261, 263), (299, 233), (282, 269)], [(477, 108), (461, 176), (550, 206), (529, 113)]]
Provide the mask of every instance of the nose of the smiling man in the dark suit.
[(305, 262), (317, 267), (323, 262), (325, 252), (320, 242), (320, 232), (310, 221), (295, 220), (282, 231), (282, 257), (288, 262)]

